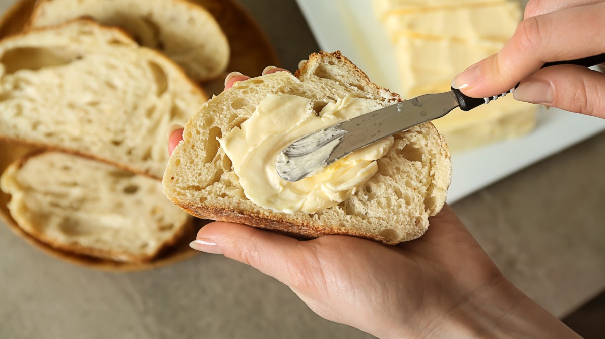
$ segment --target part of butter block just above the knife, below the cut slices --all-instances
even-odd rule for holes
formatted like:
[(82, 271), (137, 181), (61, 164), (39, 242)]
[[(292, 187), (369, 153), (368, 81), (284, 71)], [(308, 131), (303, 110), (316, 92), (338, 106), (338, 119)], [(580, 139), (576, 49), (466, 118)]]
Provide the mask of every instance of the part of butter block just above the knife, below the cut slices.
[(497, 53), (503, 45), (493, 41), (401, 36), (396, 44), (399, 79), (402, 79), (399, 91), (407, 98), (448, 91), (456, 74)]

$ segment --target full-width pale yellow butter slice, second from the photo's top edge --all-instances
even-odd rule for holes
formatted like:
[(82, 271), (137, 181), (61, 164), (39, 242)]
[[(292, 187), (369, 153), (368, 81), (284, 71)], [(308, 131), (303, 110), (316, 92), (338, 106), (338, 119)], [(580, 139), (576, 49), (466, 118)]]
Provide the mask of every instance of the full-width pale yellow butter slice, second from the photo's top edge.
[(402, 35), (506, 42), (517, 29), (521, 14), (518, 1), (490, 2), (473, 7), (396, 12), (385, 18), (384, 25), (393, 42)]

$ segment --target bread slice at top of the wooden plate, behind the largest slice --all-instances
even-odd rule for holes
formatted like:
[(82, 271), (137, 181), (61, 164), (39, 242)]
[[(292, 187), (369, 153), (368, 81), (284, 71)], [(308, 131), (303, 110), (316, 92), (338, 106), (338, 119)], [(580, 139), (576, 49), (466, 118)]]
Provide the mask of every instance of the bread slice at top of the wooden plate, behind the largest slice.
[(185, 0), (40, 0), (30, 26), (88, 16), (118, 26), (139, 44), (162, 51), (197, 81), (217, 77), (229, 63), (229, 42), (212, 15)]

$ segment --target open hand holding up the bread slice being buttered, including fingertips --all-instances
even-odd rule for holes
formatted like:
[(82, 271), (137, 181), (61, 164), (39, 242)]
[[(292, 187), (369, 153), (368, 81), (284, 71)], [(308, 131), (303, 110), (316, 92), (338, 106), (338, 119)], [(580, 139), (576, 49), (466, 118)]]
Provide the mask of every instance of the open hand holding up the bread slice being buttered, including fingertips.
[[(263, 74), (286, 71), (266, 68)], [(227, 76), (225, 89), (249, 79)], [(169, 151), (182, 139), (169, 136)], [(379, 338), (577, 338), (515, 288), (449, 206), (424, 236), (397, 246), (350, 236), (299, 241), (212, 222), (192, 248), (251, 265), (286, 283), (316, 314)]]

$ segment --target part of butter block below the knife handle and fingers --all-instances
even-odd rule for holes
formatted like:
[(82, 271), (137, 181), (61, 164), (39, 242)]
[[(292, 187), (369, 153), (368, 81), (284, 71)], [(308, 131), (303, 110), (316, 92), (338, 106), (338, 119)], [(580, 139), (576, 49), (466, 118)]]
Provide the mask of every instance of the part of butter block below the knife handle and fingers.
[(499, 98), (469, 112), (455, 109), (433, 124), (453, 152), (517, 138), (535, 128), (539, 105)]

